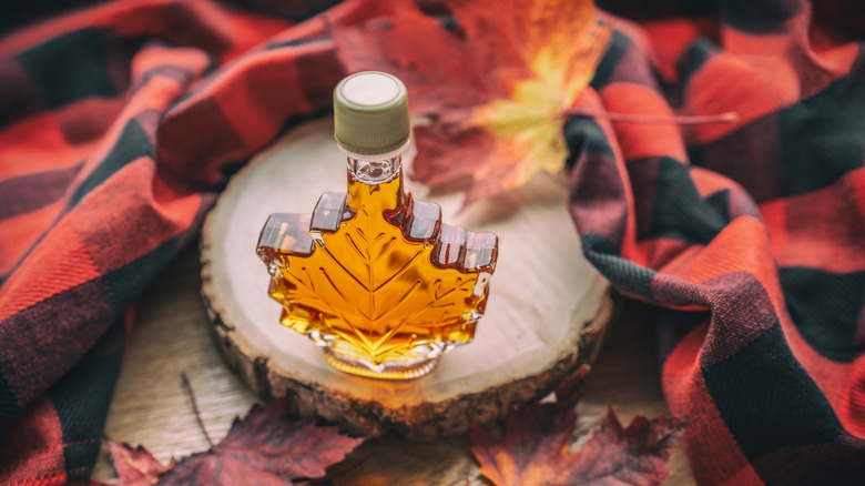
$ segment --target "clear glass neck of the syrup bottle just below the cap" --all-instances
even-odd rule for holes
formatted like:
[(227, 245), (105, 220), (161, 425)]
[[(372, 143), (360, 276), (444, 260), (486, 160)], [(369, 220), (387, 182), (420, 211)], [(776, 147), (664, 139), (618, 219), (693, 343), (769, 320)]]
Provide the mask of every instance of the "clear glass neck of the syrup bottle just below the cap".
[(353, 211), (389, 211), (405, 203), (403, 154), (387, 159), (348, 156), (348, 195)]

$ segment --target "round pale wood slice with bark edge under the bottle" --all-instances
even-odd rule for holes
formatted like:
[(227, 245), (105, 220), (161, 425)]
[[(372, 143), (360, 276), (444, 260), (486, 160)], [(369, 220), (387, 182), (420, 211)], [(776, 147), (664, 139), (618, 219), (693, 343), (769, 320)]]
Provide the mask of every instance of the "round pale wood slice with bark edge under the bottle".
[(319, 120), (237, 173), (204, 225), (202, 293), (222, 351), (253, 389), (262, 397), (293, 395), (303, 414), (357, 433), (429, 439), (464, 434), (470, 421), (488, 424), (594, 360), (613, 305), (609, 284), (582, 257), (564, 181), (539, 175), (462, 212), (459, 194), (430, 196), (410, 181), (406, 186), (439, 203), (444, 222), (499, 236), (475, 341), (425, 377), (386, 382), (332, 368), (312, 341), (279, 324), (282, 306), (267, 296), (269, 275), (255, 254), (261, 227), (271, 213), (312, 214), (323, 192), (346, 189), (333, 121)]

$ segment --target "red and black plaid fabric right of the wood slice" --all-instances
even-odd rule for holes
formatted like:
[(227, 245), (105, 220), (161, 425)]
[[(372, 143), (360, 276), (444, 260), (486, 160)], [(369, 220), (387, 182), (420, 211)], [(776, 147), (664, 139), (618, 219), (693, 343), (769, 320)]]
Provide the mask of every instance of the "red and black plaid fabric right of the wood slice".
[(663, 307), (662, 384), (695, 478), (865, 484), (865, 10), (609, 3), (640, 27), (619, 23), (589, 102), (739, 115), (566, 128), (586, 256)]

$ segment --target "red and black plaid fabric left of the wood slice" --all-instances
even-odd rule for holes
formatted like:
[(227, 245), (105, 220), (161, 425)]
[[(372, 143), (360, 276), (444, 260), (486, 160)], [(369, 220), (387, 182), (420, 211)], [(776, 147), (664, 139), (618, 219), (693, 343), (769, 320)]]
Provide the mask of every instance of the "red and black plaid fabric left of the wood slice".
[(105, 3), (0, 40), (0, 484), (89, 477), (135, 296), (328, 109), (342, 68), (298, 23), (327, 3)]

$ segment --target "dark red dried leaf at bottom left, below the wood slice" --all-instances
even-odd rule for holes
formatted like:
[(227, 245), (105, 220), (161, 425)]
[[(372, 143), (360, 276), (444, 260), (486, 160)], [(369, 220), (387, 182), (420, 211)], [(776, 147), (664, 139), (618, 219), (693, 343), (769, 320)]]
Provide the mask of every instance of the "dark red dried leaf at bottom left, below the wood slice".
[(337, 427), (293, 421), (284, 409), (283, 399), (256, 404), (245, 418), (235, 418), (225, 438), (210, 450), (162, 470), (144, 448), (115, 447), (112, 457), (115, 468), (118, 464), (122, 468), (116, 469), (120, 484), (291, 485), (294, 479), (324, 476), (328, 466), (342, 462), (364, 441), (343, 435)]

